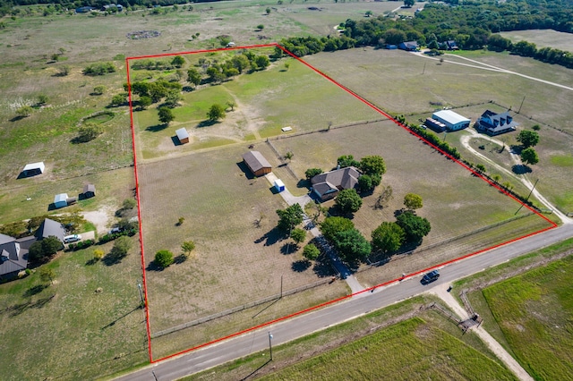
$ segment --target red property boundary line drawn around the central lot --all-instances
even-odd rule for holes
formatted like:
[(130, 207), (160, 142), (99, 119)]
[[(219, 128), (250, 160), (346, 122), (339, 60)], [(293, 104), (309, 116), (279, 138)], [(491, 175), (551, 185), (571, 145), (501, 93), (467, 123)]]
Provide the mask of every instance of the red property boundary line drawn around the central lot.
[[(208, 343), (202, 343), (200, 345), (194, 346), (192, 348), (189, 348), (187, 350), (184, 351), (178, 351), (176, 353), (173, 353), (171, 355), (159, 358), (157, 360), (153, 359), (153, 355), (152, 355), (152, 351), (151, 351), (151, 328), (150, 328), (150, 306), (148, 304), (148, 290), (147, 290), (147, 275), (146, 275), (146, 271), (145, 271), (145, 256), (144, 256), (144, 246), (143, 246), (143, 233), (142, 233), (142, 228), (141, 228), (141, 199), (140, 199), (140, 184), (139, 184), (139, 175), (138, 175), (138, 165), (137, 165), (137, 153), (136, 153), (136, 149), (135, 149), (135, 129), (133, 126), (133, 97), (132, 97), (132, 89), (131, 89), (131, 80), (130, 80), (130, 66), (129, 63), (132, 60), (138, 60), (138, 59), (146, 59), (146, 58), (158, 58), (158, 57), (166, 57), (166, 56), (173, 56), (173, 55), (194, 55), (194, 54), (199, 54), (199, 53), (210, 53), (210, 52), (218, 52), (218, 51), (228, 51), (228, 50), (242, 50), (242, 49), (251, 49), (251, 48), (256, 48), (256, 47), (278, 47), (279, 49), (281, 49), (286, 55), (290, 55), (292, 58), (294, 58), (295, 60), (297, 60), (300, 63), (303, 63), (305, 66), (307, 66), (308, 68), (310, 68), (313, 72), (316, 72), (317, 74), (321, 75), (321, 77), (323, 77), (326, 80), (329, 80), (331, 83), (333, 83), (334, 85), (338, 86), (338, 88), (345, 90), (348, 94), (350, 94), (351, 96), (355, 97), (356, 99), (358, 99), (359, 101), (361, 101), (364, 105), (371, 107), (374, 111), (376, 111), (377, 113), (384, 115), (385, 117), (387, 117), (390, 121), (396, 123), (399, 127), (401, 127), (402, 129), (406, 130), (407, 132), (409, 132), (410, 134), (414, 135), (417, 139), (422, 140), (425, 144), (429, 145), (430, 147), (432, 147), (433, 149), (437, 150), (438, 152), (440, 152), (440, 154), (442, 154), (443, 156), (447, 157), (449, 160), (452, 160), (453, 162), (457, 163), (458, 165), (461, 165), (463, 168), (465, 168), (467, 171), (469, 171), (471, 174), (473, 174), (475, 177), (478, 177), (480, 179), (482, 179), (484, 182), (487, 182), (489, 185), (491, 185), (493, 188), (495, 188), (496, 190), (499, 190), (501, 193), (505, 194), (506, 196), (508, 196), (511, 199), (514, 199), (515, 201), (517, 201), (517, 203), (519, 203), (522, 207), (526, 207), (528, 210), (530, 210), (532, 213), (534, 213), (537, 216), (540, 216), (541, 218), (543, 218), (543, 220), (545, 220), (546, 222), (548, 222), (550, 224), (549, 227), (541, 229), (537, 232), (534, 233), (528, 233), (526, 235), (523, 235), (521, 237), (517, 237), (513, 240), (510, 241), (505, 241), (502, 242), (500, 244), (494, 245), (492, 247), (483, 249), (483, 250), (478, 250), (469, 254), (466, 254), (465, 256), (459, 257), (459, 258), (454, 258), (454, 259), (450, 259), (446, 262), (442, 262), (438, 265), (434, 265), (432, 267), (428, 267), (428, 268), (424, 268), (420, 271), (416, 271), (415, 273), (412, 274), (408, 274), (405, 275), (403, 277), (400, 278), (396, 278), (393, 280), (390, 280), (388, 282), (382, 283), (382, 284), (376, 284), (370, 288), (364, 289), (360, 292), (355, 292), (352, 294), (348, 294), (346, 296), (340, 297), (338, 299), (332, 300), (332, 301), (326, 301), (324, 303), (318, 304), (316, 306), (310, 307), (308, 309), (302, 309), (298, 312), (295, 312), (293, 314), (290, 315), (286, 315), (285, 317), (282, 318), (277, 318), (274, 320), (271, 320), (269, 322), (263, 323), (259, 326), (252, 326), (251, 328), (247, 328), (244, 329), (243, 331), (239, 331), (236, 332), (235, 334), (228, 334), (227, 336), (218, 338), (216, 340), (212, 340)], [(150, 363), (156, 363), (159, 361), (163, 361), (163, 360), (167, 360), (167, 359), (172, 359), (174, 357), (180, 356), (182, 354), (185, 353), (189, 353), (191, 351), (196, 351), (198, 349), (207, 347), (209, 345), (212, 345), (214, 343), (220, 343), (223, 342), (225, 340), (231, 339), (233, 337), (239, 336), (241, 334), (246, 334), (249, 332), (252, 332), (254, 330), (260, 329), (262, 327), (265, 326), (270, 326), (273, 324), (276, 324), (278, 322), (284, 321), (286, 319), (289, 318), (294, 318), (296, 316), (299, 315), (303, 315), (307, 312), (310, 312), (312, 310), (315, 309), (321, 309), (322, 307), (326, 307), (329, 306), (330, 304), (334, 304), (337, 303), (338, 301), (344, 301), (348, 298), (352, 298), (355, 295), (361, 294), (363, 292), (370, 292), (373, 289), (379, 288), (379, 287), (383, 287), (389, 284), (394, 284), (397, 283), (399, 281), (402, 281), (406, 278), (410, 278), (413, 277), (415, 275), (420, 275), (422, 273), (425, 273), (427, 271), (430, 271), (432, 269), (438, 268), (438, 267), (444, 267), (447, 266), (449, 264), (458, 262), (462, 259), (465, 258), (470, 258), (470, 257), (474, 257), (478, 254), (481, 254), (485, 251), (488, 250), (493, 250), (496, 248), (499, 248), (500, 246), (515, 242), (515, 241), (519, 241), (519, 240), (523, 240), (527, 237), (533, 236), (535, 234), (539, 234), (539, 233), (543, 233), (546, 232), (548, 230), (554, 229), (556, 228), (558, 225), (554, 222), (552, 222), (549, 218), (541, 215), (539, 212), (537, 212), (533, 207), (529, 207), (528, 205), (526, 205), (524, 202), (522, 202), (520, 199), (517, 199), (515, 196), (513, 196), (512, 194), (510, 194), (507, 190), (502, 189), (497, 183), (494, 183), (492, 181), (490, 181), (488, 178), (484, 177), (482, 174), (476, 172), (474, 169), (470, 168), (468, 165), (464, 164), (463, 162), (461, 162), (460, 160), (458, 160), (455, 157), (452, 157), (451, 155), (449, 155), (449, 153), (445, 152), (443, 149), (435, 146), (434, 144), (432, 144), (432, 142), (425, 140), (422, 136), (416, 134), (414, 131), (410, 130), (404, 123), (400, 123), (398, 122), (398, 120), (396, 120), (394, 117), (392, 117), (390, 114), (384, 112), (383, 110), (381, 110), (380, 107), (373, 105), (370, 101), (368, 101), (367, 99), (359, 96), (358, 94), (355, 93), (355, 91), (353, 91), (352, 89), (348, 89), (346, 88), (346, 86), (342, 85), (341, 83), (339, 83), (337, 80), (334, 80), (332, 78), (330, 78), (327, 74), (325, 74), (324, 72), (321, 72), (320, 70), (316, 69), (315, 67), (313, 67), (310, 63), (306, 63), (303, 59), (301, 59), (300, 57), (298, 57), (297, 55), (294, 55), (293, 53), (289, 52), (288, 50), (286, 50), (285, 47), (282, 47), (280, 45), (278, 45), (278, 43), (271, 43), (271, 44), (262, 44), (262, 45), (252, 45), (252, 46), (245, 46), (245, 47), (230, 47), (230, 48), (218, 48), (218, 49), (205, 49), (205, 50), (196, 50), (196, 51), (192, 51), (192, 52), (179, 52), (179, 53), (168, 53), (168, 54), (163, 54), (163, 55), (141, 55), (141, 56), (134, 56), (134, 57), (127, 57), (125, 58), (125, 70), (127, 72), (127, 88), (128, 88), (128, 101), (129, 101), (129, 110), (130, 110), (130, 126), (132, 129), (132, 148), (133, 148), (133, 166), (134, 166), (134, 173), (135, 173), (135, 190), (136, 190), (136, 199), (137, 199), (137, 214), (138, 214), (138, 218), (140, 220), (140, 232), (139, 232), (139, 237), (140, 237), (140, 249), (141, 249), (141, 272), (142, 272), (142, 277), (143, 277), (143, 289), (144, 289), (144, 294), (145, 294), (145, 303), (144, 303), (144, 307), (145, 307), (145, 321), (146, 321), (146, 330), (147, 330), (147, 339), (148, 339), (148, 352), (149, 352), (149, 357), (150, 357)]]

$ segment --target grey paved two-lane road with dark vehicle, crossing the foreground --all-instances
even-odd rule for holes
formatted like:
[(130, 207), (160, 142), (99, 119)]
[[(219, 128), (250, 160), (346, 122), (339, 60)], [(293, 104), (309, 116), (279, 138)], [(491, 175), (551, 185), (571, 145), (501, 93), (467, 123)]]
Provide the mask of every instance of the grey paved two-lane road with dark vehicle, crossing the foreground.
[[(444, 267), (440, 271), (440, 279), (433, 285), (446, 287), (447, 284), (457, 279), (475, 274), (487, 267), (499, 265), (511, 258), (522, 256), (530, 251), (563, 241), (572, 236), (573, 225), (565, 224), (560, 228), (515, 241), (472, 258), (466, 258)], [(147, 368), (118, 379), (122, 381), (167, 381), (212, 368), (229, 360), (246, 356), (254, 351), (269, 348), (269, 332), (273, 335), (273, 345), (278, 345), (348, 319), (356, 318), (374, 309), (381, 309), (398, 301), (411, 298), (427, 290), (427, 287), (420, 284), (419, 280), (420, 275), (406, 275), (406, 278), (401, 282), (381, 287), (374, 290), (374, 292), (365, 291), (365, 295), (362, 298), (348, 298), (346, 301), (330, 305), (329, 307), (237, 336), (198, 351), (192, 351), (172, 360), (150, 365)]]

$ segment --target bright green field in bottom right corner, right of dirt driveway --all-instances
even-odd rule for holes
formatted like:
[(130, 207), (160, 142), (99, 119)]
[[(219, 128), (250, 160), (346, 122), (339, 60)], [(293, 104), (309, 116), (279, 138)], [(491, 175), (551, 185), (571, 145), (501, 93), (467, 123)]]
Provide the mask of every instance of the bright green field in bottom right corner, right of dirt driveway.
[(573, 374), (573, 257), (483, 290), (517, 361), (535, 379)]

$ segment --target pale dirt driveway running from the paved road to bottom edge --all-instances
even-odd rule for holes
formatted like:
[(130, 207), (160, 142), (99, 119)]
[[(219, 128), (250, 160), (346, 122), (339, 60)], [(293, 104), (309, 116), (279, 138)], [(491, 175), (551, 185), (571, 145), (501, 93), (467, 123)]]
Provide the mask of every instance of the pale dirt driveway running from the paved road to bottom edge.
[[(467, 318), (466, 309), (464, 309), (458, 303), (458, 301), (456, 301), (453, 295), (447, 291), (447, 287), (444, 284), (440, 284), (439, 286), (432, 288), (431, 290), (428, 291), (428, 293), (432, 293), (437, 297), (439, 297), (442, 301), (444, 301), (450, 309), (453, 309), (453, 311), (458, 315), (459, 318), (463, 319)], [(529, 374), (526, 372), (526, 369), (524, 369), (521, 365), (519, 365), (519, 363), (513, 357), (511, 357), (508, 351), (506, 351), (500, 345), (500, 343), (498, 343), (492, 337), (491, 334), (489, 334), (487, 331), (485, 331), (485, 329), (483, 329), (483, 326), (477, 326), (471, 329), (475, 332), (475, 334), (477, 334), (480, 337), (480, 339), (482, 339), (483, 343), (485, 343), (488, 346), (488, 348), (492, 350), (492, 352), (498, 357), (498, 359), (503, 361), (506, 367), (508, 367), (509, 370), (511, 370), (517, 376), (517, 378), (523, 381), (534, 380), (533, 377), (529, 376)]]

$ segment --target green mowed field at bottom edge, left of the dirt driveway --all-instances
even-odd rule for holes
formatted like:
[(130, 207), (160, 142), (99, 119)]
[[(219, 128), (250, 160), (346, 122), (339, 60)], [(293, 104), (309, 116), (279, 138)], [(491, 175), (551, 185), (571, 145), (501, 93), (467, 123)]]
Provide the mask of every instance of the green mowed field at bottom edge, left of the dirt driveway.
[(262, 379), (425, 380), (435, 377), (517, 379), (507, 368), (421, 318), (390, 326)]

